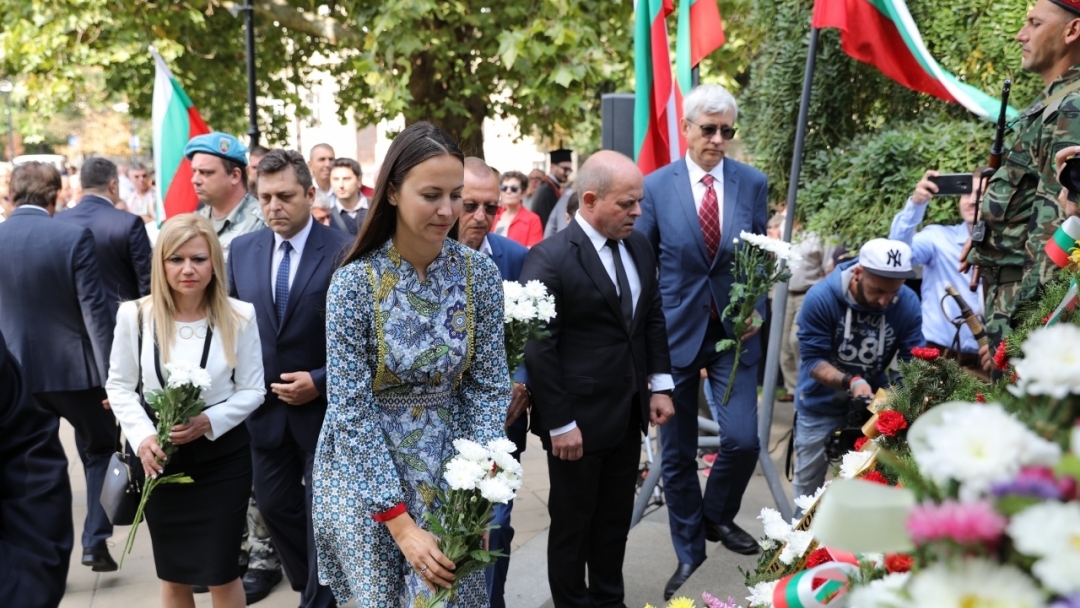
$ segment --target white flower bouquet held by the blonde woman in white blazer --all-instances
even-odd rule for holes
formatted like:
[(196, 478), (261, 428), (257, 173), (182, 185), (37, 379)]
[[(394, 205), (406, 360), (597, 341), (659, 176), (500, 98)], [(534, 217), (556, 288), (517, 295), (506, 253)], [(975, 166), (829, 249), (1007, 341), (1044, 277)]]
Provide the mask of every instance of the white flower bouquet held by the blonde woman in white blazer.
[[(210, 373), (198, 365), (177, 361), (165, 364), (167, 380), (165, 387), (146, 394), (146, 403), (154, 411), (158, 418), (158, 445), (162, 451), (172, 456), (177, 446), (173, 445), (170, 433), (173, 427), (184, 424), (191, 418), (199, 416), (206, 403), (202, 398), (203, 391), (210, 390)], [(159, 462), (164, 464), (164, 462)], [(150, 499), (153, 488), (162, 484), (190, 484), (192, 478), (184, 473), (173, 473), (171, 475), (153, 475), (143, 484), (143, 497), (139, 499), (138, 510), (135, 512), (135, 521), (132, 522), (131, 530), (127, 531), (127, 541), (124, 543), (124, 551), (120, 555), (120, 565), (124, 564), (124, 556), (131, 553), (135, 544), (135, 532), (143, 522), (143, 511), (146, 502)]]

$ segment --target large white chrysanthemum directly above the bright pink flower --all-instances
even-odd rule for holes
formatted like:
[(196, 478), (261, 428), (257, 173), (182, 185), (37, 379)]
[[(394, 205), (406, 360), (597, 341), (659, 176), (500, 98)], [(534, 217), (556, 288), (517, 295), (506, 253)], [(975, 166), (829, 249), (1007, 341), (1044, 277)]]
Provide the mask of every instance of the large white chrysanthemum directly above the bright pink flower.
[(994, 482), (1012, 479), (1023, 467), (1053, 467), (1062, 456), (1056, 444), (1036, 435), (997, 403), (949, 407), (910, 445), (919, 470), (941, 485), (960, 482), (964, 501), (977, 499)]

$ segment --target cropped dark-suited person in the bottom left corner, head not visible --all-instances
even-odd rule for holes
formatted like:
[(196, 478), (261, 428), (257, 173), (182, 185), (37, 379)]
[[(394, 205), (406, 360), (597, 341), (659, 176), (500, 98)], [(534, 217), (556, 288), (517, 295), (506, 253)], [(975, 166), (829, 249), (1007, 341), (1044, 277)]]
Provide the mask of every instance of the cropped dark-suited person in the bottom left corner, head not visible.
[(36, 406), (0, 334), (0, 606), (57, 606), (71, 543), (71, 483), (59, 422)]

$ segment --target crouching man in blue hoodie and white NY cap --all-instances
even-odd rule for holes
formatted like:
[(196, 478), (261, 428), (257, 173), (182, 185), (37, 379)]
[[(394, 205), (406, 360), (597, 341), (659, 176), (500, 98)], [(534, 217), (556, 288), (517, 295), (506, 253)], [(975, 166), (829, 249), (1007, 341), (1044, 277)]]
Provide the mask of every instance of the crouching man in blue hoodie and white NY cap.
[(904, 285), (913, 276), (907, 243), (874, 239), (807, 292), (798, 320), (795, 496), (825, 483), (825, 437), (843, 425), (848, 397), (888, 386), (893, 356), (908, 360), (922, 346), (919, 298)]

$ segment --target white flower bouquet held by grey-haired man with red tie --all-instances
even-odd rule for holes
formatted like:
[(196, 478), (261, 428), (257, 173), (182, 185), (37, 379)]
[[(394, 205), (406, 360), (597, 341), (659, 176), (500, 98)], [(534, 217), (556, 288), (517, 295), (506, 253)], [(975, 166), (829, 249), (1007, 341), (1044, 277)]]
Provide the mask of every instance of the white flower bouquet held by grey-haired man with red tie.
[(773, 285), (791, 279), (792, 273), (788, 269), (797, 266), (801, 259), (792, 251), (791, 243), (761, 234), (751, 234), (745, 230), (740, 232), (739, 239), (734, 239), (733, 242), (735, 260), (731, 273), (735, 282), (731, 285), (728, 306), (725, 307), (721, 316), (734, 324), (734, 335), (716, 342), (716, 350), (724, 352), (734, 347), (735, 361), (731, 366), (731, 377), (728, 378), (724, 398), (720, 400), (721, 405), (727, 405), (731, 397), (731, 386), (735, 381), (735, 371), (742, 357), (742, 337), (752, 327), (760, 327), (764, 322), (754, 313), (754, 306)]

